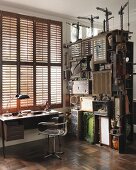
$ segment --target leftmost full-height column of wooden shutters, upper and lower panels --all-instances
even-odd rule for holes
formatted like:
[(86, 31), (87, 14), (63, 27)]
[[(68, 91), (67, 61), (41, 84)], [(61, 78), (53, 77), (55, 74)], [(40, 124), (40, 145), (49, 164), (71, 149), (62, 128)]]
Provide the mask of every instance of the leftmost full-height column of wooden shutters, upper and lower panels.
[(2, 109), (10, 111), (17, 107), (17, 18), (2, 13)]

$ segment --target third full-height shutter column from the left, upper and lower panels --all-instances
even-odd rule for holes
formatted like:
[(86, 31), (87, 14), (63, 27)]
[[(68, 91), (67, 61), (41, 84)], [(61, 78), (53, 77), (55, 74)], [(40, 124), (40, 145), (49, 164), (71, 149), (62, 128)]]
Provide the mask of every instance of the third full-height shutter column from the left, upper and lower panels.
[(36, 106), (48, 101), (48, 29), (46, 20), (36, 21)]

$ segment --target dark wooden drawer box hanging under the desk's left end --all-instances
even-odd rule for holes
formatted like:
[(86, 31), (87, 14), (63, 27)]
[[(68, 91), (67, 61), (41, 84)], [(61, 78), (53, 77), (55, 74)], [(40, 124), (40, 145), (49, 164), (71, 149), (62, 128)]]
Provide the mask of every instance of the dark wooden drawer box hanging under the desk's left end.
[(7, 122), (4, 124), (5, 140), (17, 140), (24, 138), (24, 125), (20, 122)]

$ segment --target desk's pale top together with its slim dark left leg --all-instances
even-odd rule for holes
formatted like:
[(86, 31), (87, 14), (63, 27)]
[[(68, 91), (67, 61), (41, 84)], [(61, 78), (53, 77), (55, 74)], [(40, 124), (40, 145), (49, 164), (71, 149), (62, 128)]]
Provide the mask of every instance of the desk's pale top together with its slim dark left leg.
[[(3, 156), (5, 158), (5, 124), (8, 122), (14, 122), (14, 121), (21, 121), (24, 123), (25, 120), (28, 119), (38, 119), (40, 117), (44, 118), (42, 121), (47, 121), (47, 117), (50, 116), (57, 116), (58, 114), (61, 114), (61, 112), (51, 110), (51, 111), (41, 111), (41, 113), (36, 113), (37, 111), (34, 111), (32, 113), (27, 114), (26, 116), (0, 116), (0, 122), (1, 122), (1, 138), (2, 138), (2, 151)], [(24, 130), (24, 129), (23, 129)]]

